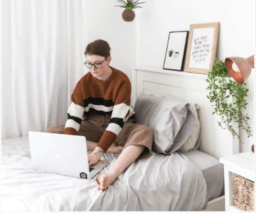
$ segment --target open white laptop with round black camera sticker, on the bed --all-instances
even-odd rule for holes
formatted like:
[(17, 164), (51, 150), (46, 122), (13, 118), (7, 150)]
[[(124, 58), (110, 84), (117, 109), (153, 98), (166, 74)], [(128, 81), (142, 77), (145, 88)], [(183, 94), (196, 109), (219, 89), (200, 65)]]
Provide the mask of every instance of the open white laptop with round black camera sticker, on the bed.
[(29, 131), (33, 169), (82, 179), (92, 179), (108, 161), (89, 167), (86, 137)]

